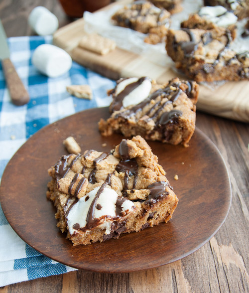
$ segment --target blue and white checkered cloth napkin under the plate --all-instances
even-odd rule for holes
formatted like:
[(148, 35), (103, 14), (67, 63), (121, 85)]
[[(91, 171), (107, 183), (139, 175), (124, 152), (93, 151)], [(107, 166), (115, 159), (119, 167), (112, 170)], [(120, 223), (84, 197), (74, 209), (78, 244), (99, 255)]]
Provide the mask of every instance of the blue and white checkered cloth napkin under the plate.
[[(10, 59), (30, 95), (30, 102), (14, 106), (10, 102), (0, 66), (0, 177), (16, 150), (43, 126), (76, 112), (110, 104), (106, 91), (114, 81), (73, 62), (68, 73), (48, 78), (31, 64), (34, 49), (51, 43), (52, 37), (9, 38)], [(78, 99), (66, 91), (71, 84), (89, 84), (93, 99)], [(75, 270), (57, 263), (30, 246), (12, 230), (0, 207), (0, 287)]]

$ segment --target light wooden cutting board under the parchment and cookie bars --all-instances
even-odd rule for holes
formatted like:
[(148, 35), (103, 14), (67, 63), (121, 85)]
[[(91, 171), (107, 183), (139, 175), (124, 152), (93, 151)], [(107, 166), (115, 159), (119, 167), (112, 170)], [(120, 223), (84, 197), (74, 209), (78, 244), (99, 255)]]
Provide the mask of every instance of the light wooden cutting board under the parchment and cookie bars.
[[(131, 0), (120, 0), (125, 4)], [(101, 10), (117, 5), (114, 2)], [(116, 48), (107, 55), (99, 55), (78, 47), (84, 34), (84, 19), (78, 19), (53, 35), (53, 43), (66, 50), (73, 60), (108, 78), (149, 76), (157, 82), (167, 82), (178, 74), (170, 67), (159, 65), (136, 53)], [(165, 51), (166, 54), (166, 51)], [(183, 75), (180, 78), (185, 78)], [(226, 82), (219, 87), (200, 85), (197, 110), (242, 122), (249, 122), (249, 81)]]

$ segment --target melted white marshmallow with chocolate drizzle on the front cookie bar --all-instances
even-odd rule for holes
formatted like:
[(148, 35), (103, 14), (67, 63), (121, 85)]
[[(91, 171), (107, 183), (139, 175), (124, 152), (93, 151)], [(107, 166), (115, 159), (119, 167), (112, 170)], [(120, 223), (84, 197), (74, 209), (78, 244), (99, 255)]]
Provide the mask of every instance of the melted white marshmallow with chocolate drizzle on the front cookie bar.
[(132, 212), (134, 207), (130, 200), (119, 196), (114, 189), (102, 185), (69, 207), (67, 214), (69, 232), (74, 234), (79, 229), (88, 230), (99, 226), (106, 229), (105, 234), (110, 234), (111, 223), (105, 219), (117, 219)]

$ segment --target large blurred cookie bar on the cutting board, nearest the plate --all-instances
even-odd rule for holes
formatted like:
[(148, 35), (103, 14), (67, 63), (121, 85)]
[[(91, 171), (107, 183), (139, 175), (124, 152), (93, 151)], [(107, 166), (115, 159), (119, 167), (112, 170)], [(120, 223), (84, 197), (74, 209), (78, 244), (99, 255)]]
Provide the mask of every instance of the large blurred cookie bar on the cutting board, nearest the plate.
[(226, 28), (170, 29), (166, 50), (178, 69), (197, 82), (248, 80), (249, 52), (229, 48), (231, 33)]

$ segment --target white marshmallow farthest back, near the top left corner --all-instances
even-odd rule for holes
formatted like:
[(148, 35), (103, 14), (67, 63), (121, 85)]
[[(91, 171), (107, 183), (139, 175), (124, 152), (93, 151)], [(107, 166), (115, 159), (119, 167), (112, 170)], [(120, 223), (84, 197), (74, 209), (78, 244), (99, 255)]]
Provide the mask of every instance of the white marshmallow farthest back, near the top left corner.
[(37, 6), (31, 11), (28, 23), (38, 35), (53, 34), (59, 25), (58, 18), (43, 6)]

